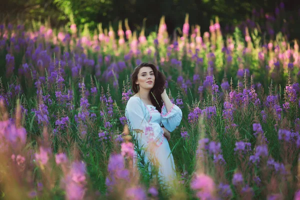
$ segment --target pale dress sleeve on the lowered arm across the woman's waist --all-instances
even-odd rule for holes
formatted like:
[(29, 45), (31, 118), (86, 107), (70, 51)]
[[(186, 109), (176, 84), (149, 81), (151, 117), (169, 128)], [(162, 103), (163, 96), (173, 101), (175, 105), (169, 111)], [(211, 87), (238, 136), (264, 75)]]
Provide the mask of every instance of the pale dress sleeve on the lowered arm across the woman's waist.
[(128, 126), (134, 133), (136, 133), (141, 145), (154, 141), (158, 146), (160, 146), (164, 139), (163, 129), (158, 123), (146, 120), (146, 113), (144, 113), (142, 106), (145, 105), (137, 98), (130, 98), (128, 100), (125, 108), (125, 116), (128, 121)]

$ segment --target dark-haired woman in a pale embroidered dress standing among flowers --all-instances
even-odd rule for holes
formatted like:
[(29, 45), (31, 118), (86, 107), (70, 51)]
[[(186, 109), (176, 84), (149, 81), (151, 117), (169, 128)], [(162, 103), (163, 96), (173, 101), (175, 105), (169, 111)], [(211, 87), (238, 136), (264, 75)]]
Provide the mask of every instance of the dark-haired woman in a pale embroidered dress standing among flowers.
[(164, 87), (165, 76), (153, 64), (136, 66), (131, 83), (135, 94), (130, 97), (125, 109), (128, 125), (137, 138), (138, 146), (145, 148), (145, 161), (151, 160), (158, 166), (162, 179), (170, 182), (176, 173), (168, 140), (170, 132), (180, 124), (182, 111), (168, 98)]

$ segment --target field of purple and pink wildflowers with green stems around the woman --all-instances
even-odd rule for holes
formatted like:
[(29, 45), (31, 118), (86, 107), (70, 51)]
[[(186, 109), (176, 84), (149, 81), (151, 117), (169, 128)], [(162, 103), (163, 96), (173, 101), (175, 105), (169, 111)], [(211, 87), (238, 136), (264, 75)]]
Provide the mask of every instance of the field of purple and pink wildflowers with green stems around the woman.
[[(117, 31), (1, 24), (1, 198), (299, 199), (299, 46), (273, 19), (226, 35), (217, 18), (200, 32), (188, 15), (180, 35), (163, 17), (149, 35), (126, 20)], [(124, 109), (141, 62), (165, 74), (183, 113), (173, 188), (138, 146), (132, 167)]]

